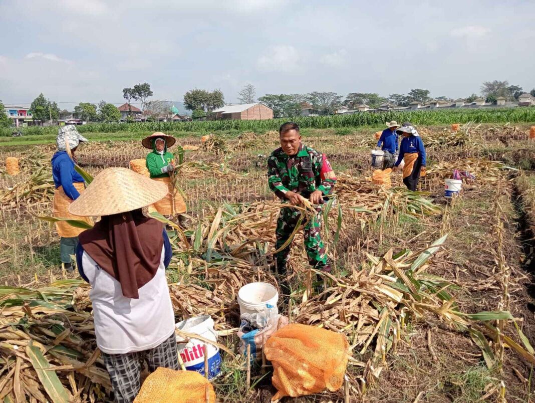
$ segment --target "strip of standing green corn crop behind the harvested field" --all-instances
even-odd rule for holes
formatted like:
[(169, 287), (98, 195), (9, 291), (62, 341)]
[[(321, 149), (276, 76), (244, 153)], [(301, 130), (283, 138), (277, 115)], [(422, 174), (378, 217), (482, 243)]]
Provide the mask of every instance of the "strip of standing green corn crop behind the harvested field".
[[(491, 110), (448, 110), (448, 111), (407, 111), (407, 112), (361, 112), (353, 115), (332, 115), (318, 117), (294, 117), (271, 120), (210, 120), (190, 122), (150, 122), (150, 123), (91, 123), (80, 126), (81, 133), (115, 132), (210, 132), (225, 130), (266, 131), (278, 130), (285, 121), (293, 120), (302, 128), (338, 128), (357, 126), (380, 126), (385, 121), (410, 121), (415, 125), (449, 125), (453, 123), (521, 123), (535, 121), (535, 108), (508, 108)], [(24, 134), (55, 134), (56, 126), (29, 126)], [(0, 134), (11, 135), (12, 128), (2, 129)]]

